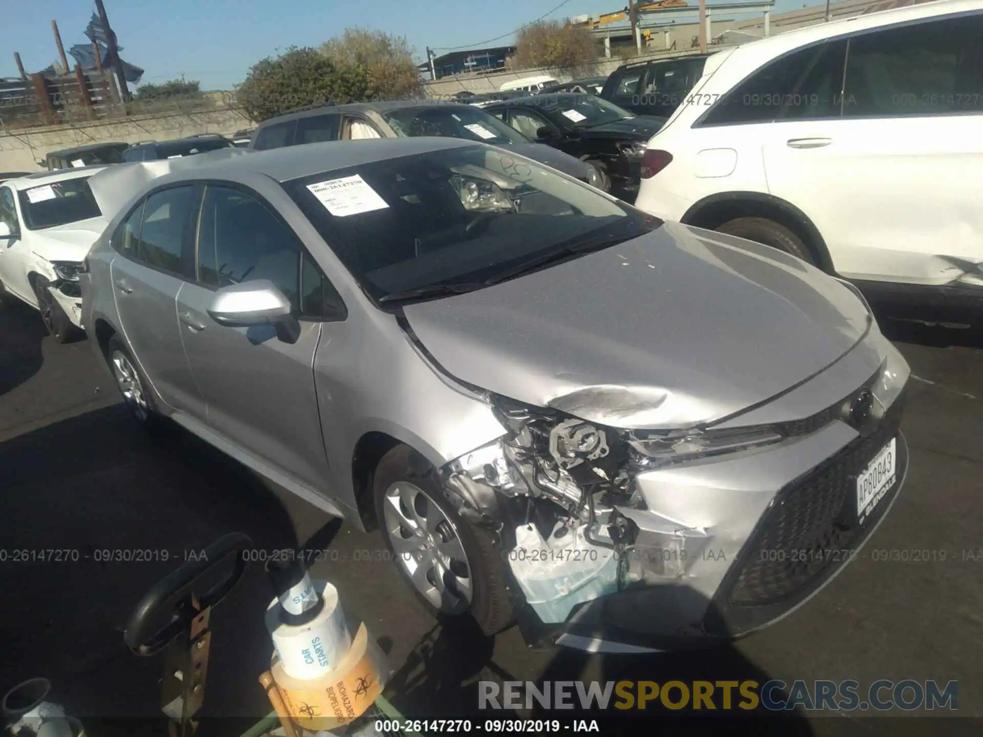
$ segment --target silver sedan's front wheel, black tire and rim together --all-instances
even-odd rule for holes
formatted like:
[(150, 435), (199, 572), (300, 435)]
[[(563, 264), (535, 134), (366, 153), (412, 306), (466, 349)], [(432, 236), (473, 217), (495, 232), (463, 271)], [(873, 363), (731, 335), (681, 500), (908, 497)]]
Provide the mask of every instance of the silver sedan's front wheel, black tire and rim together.
[(379, 461), (373, 492), (385, 545), (434, 616), (470, 612), (486, 635), (511, 623), (501, 546), (457, 514), (432, 464), (397, 445)]

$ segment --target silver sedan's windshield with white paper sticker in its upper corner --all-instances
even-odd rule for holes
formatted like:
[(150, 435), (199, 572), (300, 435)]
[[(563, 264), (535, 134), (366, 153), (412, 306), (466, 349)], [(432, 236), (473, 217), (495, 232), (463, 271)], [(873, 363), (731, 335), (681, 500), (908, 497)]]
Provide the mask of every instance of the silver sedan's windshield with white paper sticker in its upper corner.
[(542, 260), (546, 268), (551, 254), (575, 257), (661, 225), (486, 145), (329, 171), (284, 188), (363, 289), (383, 302), (480, 288), (526, 263)]

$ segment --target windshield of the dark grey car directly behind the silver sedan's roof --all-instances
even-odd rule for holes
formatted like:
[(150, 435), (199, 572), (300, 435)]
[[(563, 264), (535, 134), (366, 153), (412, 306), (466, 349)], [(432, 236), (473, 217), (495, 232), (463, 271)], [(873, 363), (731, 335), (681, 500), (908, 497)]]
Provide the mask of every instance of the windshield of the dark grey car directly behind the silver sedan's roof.
[(385, 112), (382, 117), (398, 136), (438, 136), (492, 145), (529, 142), (511, 126), (478, 107), (402, 107)]

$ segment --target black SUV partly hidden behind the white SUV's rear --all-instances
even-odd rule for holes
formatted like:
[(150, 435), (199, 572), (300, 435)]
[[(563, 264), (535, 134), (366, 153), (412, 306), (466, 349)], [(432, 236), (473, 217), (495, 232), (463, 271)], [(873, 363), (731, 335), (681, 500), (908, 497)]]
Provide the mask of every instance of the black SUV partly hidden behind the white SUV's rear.
[(601, 96), (638, 115), (668, 118), (703, 76), (709, 56), (623, 64), (607, 78)]

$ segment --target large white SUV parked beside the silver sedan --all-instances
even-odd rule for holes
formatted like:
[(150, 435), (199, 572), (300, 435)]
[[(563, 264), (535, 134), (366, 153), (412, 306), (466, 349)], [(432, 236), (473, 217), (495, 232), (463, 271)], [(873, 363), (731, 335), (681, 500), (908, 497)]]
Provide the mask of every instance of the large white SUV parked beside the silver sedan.
[(648, 143), (636, 206), (901, 304), (983, 304), (983, 2), (941, 0), (711, 56)]

